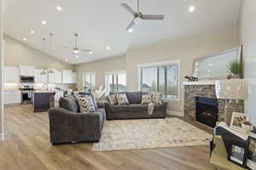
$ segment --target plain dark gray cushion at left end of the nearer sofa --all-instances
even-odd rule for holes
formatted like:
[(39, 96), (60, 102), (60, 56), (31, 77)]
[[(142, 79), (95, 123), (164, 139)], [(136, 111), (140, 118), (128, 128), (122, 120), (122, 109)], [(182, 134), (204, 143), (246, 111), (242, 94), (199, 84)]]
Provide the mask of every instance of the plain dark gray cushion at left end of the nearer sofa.
[(59, 105), (61, 108), (67, 111), (79, 112), (79, 104), (73, 97), (63, 98), (59, 100)]

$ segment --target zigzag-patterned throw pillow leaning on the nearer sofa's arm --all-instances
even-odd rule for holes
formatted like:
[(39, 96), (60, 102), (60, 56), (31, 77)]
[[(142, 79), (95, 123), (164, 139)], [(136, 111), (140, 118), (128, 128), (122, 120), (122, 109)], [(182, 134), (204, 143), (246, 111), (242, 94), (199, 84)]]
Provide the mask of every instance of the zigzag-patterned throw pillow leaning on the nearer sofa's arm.
[(93, 99), (90, 95), (84, 95), (83, 97), (78, 97), (80, 111), (83, 112), (95, 112), (96, 107), (94, 105)]

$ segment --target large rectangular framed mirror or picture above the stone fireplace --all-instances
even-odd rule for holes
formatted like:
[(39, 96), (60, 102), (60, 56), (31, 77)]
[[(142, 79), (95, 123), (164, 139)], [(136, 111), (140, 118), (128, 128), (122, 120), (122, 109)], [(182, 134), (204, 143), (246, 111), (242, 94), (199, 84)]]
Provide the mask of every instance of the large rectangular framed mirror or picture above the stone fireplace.
[(228, 65), (235, 61), (241, 61), (241, 47), (195, 59), (192, 75), (199, 80), (226, 79), (229, 74)]

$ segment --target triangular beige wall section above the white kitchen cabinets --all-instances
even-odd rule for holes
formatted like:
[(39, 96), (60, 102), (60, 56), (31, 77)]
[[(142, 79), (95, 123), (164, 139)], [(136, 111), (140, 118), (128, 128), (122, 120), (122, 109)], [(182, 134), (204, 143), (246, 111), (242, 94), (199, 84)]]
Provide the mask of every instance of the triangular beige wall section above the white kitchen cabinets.
[(4, 35), (4, 65), (34, 65), (40, 69), (73, 69), (73, 65), (55, 59), (49, 54), (44, 54), (23, 42)]

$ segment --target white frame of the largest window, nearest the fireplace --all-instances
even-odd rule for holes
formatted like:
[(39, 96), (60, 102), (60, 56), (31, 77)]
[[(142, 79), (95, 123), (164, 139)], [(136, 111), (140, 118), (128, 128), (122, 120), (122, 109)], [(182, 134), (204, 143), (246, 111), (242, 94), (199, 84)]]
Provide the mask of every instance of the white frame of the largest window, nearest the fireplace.
[[(147, 64), (143, 64), (143, 65), (137, 65), (137, 82), (138, 82), (138, 90), (142, 91), (142, 81), (143, 81), (143, 68), (154, 68), (154, 67), (160, 67), (160, 66), (170, 66), (170, 65), (177, 65), (177, 99), (170, 99), (170, 98), (163, 98), (166, 101), (170, 101), (170, 102), (179, 102), (181, 100), (181, 60), (169, 60), (169, 61), (160, 61), (160, 62), (154, 62), (154, 63), (147, 63)], [(166, 75), (166, 70), (165, 70), (165, 75)], [(158, 82), (159, 82), (159, 75), (157, 77)], [(167, 83), (166, 81), (167, 77), (165, 76), (165, 83)], [(159, 88), (159, 86), (158, 86)], [(166, 88), (166, 85), (165, 85)], [(158, 89), (159, 91), (159, 89)]]

